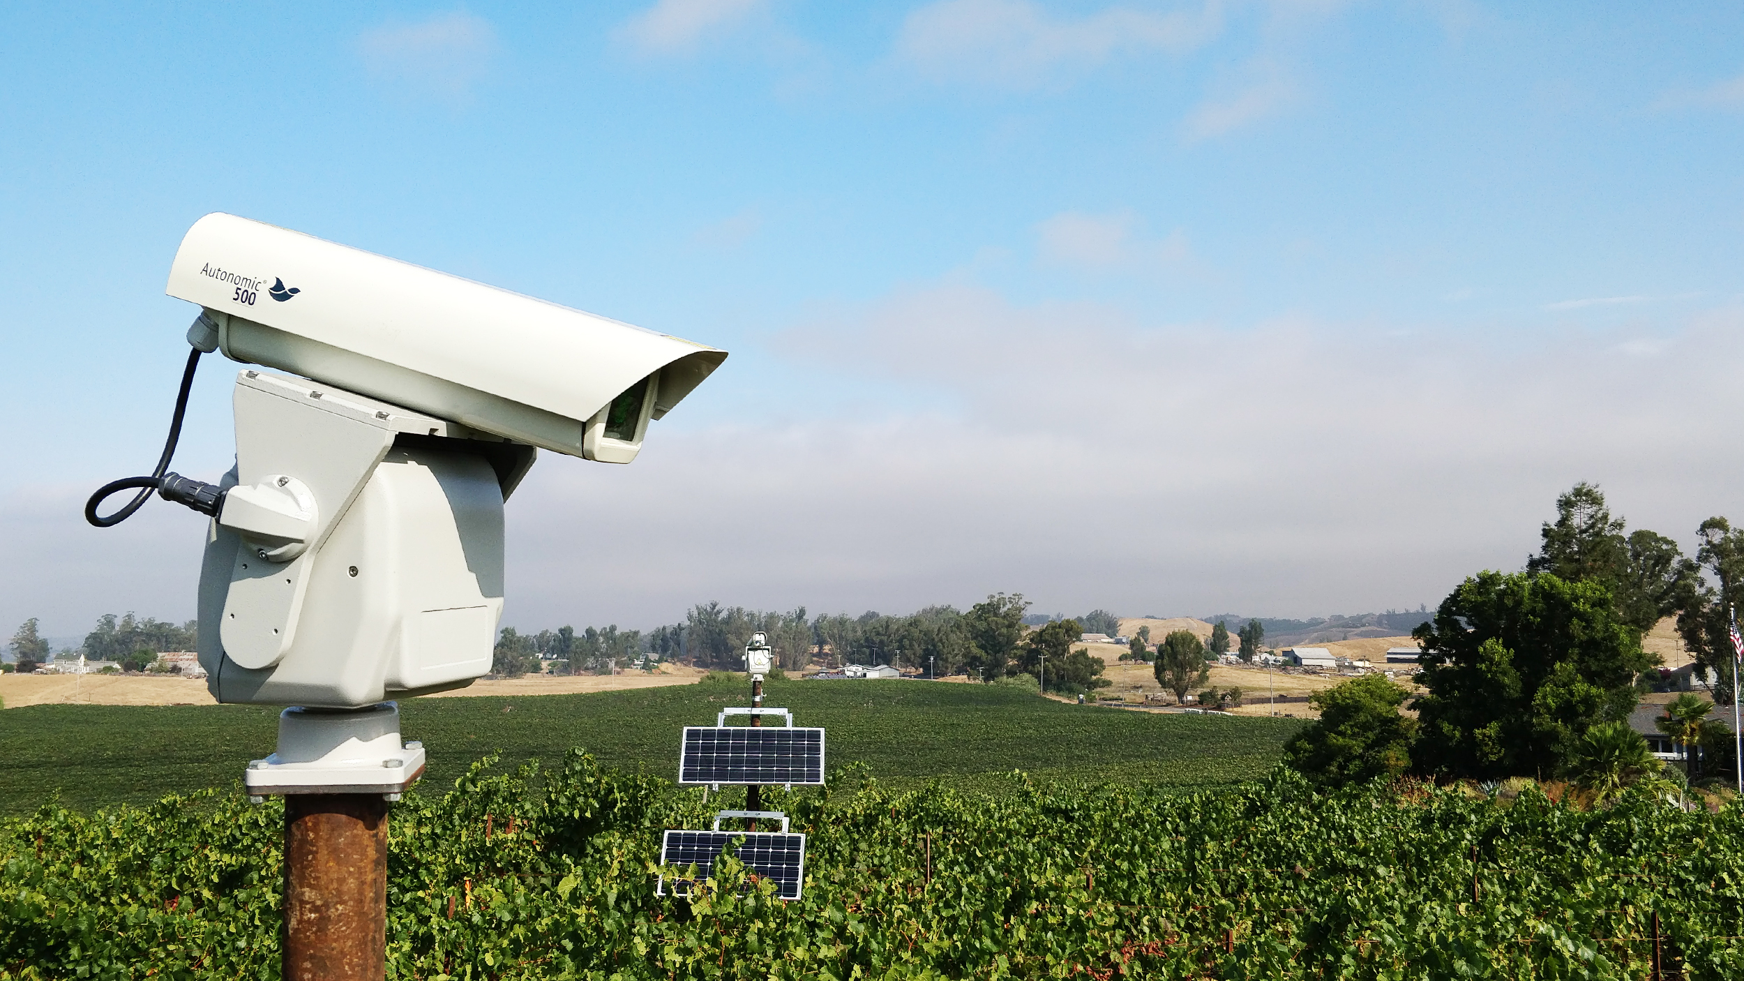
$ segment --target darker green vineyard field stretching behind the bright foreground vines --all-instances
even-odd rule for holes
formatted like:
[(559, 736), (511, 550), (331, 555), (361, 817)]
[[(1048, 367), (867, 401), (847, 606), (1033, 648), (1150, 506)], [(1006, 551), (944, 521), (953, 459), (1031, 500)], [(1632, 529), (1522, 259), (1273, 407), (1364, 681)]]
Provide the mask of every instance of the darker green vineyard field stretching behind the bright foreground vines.
[[(516, 698), (412, 698), (401, 731), (431, 751), (443, 785), (478, 758), (556, 761), (584, 745), (603, 765), (670, 777), (678, 730), (748, 702), (743, 679)], [(771, 681), (767, 703), (825, 726), (832, 763), (865, 763), (896, 785), (940, 777), (996, 789), (1024, 770), (1045, 780), (1210, 785), (1250, 780), (1280, 756), (1296, 719), (1156, 716), (1050, 702), (1018, 689), (917, 681)], [(0, 712), (0, 813), (52, 794), (73, 808), (150, 803), (241, 784), (272, 751), (277, 710), (253, 705), (31, 705)]]

